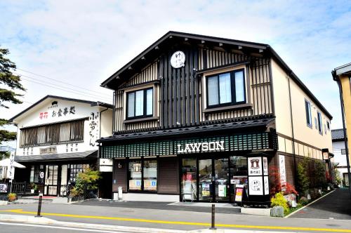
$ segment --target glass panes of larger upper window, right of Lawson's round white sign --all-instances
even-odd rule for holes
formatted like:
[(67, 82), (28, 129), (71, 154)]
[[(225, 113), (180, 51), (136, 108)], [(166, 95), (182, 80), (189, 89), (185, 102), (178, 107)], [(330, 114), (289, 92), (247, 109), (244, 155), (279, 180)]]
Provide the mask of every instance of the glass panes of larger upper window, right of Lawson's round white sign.
[(207, 77), (207, 107), (246, 102), (244, 69)]

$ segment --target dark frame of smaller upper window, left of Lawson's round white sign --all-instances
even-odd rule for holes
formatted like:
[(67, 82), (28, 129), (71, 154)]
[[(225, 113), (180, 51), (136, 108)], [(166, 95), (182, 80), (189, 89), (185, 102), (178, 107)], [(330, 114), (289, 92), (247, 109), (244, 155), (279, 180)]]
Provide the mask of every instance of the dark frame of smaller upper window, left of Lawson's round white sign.
[[(147, 90), (152, 90), (152, 114), (147, 114)], [(135, 116), (135, 93), (137, 91), (143, 91), (143, 115), (140, 116)], [(128, 101), (128, 95), (130, 93), (134, 93), (134, 116), (128, 116), (128, 106), (129, 106), (129, 101)], [(147, 117), (152, 117), (154, 116), (154, 86), (147, 87), (147, 88), (141, 88), (141, 89), (135, 89), (133, 91), (127, 91), (126, 92), (126, 120), (132, 120), (132, 119), (143, 119)]]

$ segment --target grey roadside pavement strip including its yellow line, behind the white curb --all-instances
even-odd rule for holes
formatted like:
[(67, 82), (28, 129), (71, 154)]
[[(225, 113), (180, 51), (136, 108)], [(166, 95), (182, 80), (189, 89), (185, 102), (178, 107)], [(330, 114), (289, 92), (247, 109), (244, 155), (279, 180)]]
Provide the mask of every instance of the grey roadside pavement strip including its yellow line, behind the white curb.
[[(42, 215), (53, 220), (84, 222), (129, 227), (151, 227), (161, 229), (204, 229), (211, 223), (211, 213), (194, 211), (170, 211), (147, 208), (122, 208), (110, 206), (85, 206), (72, 204), (46, 204)], [(18, 211), (9, 212), (17, 209)], [(0, 206), (0, 213), (35, 215), (36, 204)], [(308, 232), (331, 232), (329, 229), (348, 229), (350, 220), (318, 220), (306, 218), (271, 218), (235, 213), (216, 213), (216, 226), (227, 229), (256, 229), (270, 231), (302, 232), (301, 227), (310, 227)], [(323, 230), (322, 230), (323, 229)]]

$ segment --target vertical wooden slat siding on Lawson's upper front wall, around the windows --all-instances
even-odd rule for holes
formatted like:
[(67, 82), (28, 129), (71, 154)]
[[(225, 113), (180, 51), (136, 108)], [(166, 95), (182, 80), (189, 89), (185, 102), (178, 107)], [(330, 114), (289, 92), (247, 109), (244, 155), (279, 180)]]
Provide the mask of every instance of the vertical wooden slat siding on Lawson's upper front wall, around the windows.
[[(128, 86), (137, 86), (160, 78), (159, 85), (159, 122), (147, 121), (135, 124), (124, 124), (124, 91), (116, 91), (115, 130), (137, 130), (141, 128), (173, 128), (192, 126), (201, 121), (213, 121), (246, 117), (252, 115), (272, 114), (272, 90), (270, 84), (269, 60), (254, 58), (247, 55), (215, 51), (206, 48), (184, 46), (180, 48), (185, 53), (185, 66), (179, 69), (171, 67), (170, 58), (173, 51), (168, 51), (154, 62), (145, 67), (140, 74), (135, 74), (129, 81), (119, 86), (124, 89)], [(223, 112), (202, 112), (204, 105), (204, 91), (201, 85), (202, 74), (197, 76), (201, 69), (210, 69), (223, 65), (234, 65), (239, 62), (250, 62), (246, 67), (245, 79), (247, 88), (246, 99), (252, 104), (250, 109), (230, 109)], [(194, 70), (196, 69), (196, 71)], [(156, 95), (155, 95), (156, 98)]]

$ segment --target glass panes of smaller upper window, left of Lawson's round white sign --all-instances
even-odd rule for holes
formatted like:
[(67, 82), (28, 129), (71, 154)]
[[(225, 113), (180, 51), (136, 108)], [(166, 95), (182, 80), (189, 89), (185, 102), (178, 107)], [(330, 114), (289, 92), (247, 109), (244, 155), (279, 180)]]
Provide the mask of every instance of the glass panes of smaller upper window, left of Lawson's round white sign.
[(131, 91), (127, 95), (126, 119), (152, 116), (154, 112), (154, 89)]

